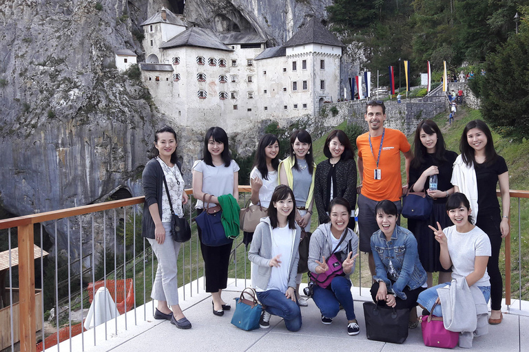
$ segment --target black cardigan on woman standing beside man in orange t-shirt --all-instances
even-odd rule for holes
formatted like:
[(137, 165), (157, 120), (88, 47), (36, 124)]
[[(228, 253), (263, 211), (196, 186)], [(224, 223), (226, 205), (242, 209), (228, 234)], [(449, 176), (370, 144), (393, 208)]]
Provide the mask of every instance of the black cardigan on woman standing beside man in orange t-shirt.
[[(327, 207), (329, 206), (330, 193), (327, 190), (329, 173), (331, 173), (333, 166), (329, 159), (320, 162), (316, 167), (315, 183), (314, 183), (314, 202), (318, 209), (318, 219), (320, 223), (328, 223), (329, 215), (327, 215)], [(336, 171), (336, 194), (334, 197), (344, 197), (351, 204), (351, 209), (356, 207), (356, 163), (355, 159), (351, 158), (347, 161), (340, 159), (334, 165)]]

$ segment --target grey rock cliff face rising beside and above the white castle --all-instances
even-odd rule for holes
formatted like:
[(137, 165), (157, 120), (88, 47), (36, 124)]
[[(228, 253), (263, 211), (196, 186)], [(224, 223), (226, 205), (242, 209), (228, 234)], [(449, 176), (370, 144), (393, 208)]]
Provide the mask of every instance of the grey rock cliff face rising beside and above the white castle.
[[(185, 15), (278, 45), (331, 3), (188, 0)], [(0, 206), (23, 215), (103, 201), (119, 187), (141, 195), (153, 132), (173, 122), (149, 106), (141, 82), (118, 73), (114, 52), (133, 50), (143, 61), (138, 24), (162, 5), (180, 12), (183, 1), (0, 0)], [(189, 170), (204, 131), (181, 133)], [(58, 230), (61, 249), (65, 224)]]

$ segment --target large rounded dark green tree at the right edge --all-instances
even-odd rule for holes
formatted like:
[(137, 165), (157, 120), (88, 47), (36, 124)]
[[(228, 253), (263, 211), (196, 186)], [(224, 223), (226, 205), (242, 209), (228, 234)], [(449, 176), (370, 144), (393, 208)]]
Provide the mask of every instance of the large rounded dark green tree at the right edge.
[[(529, 14), (529, 7), (523, 9)], [(522, 16), (523, 18), (523, 16)], [(504, 135), (529, 133), (529, 20), (486, 60), (486, 75), (477, 87), (484, 119)]]

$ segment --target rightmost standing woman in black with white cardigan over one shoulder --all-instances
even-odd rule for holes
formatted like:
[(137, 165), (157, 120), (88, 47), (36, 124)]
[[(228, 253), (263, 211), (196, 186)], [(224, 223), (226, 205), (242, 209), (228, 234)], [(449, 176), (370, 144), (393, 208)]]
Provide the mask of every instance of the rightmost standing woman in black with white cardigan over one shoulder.
[[(498, 262), (501, 239), (508, 236), (510, 232), (508, 168), (505, 159), (497, 155), (495, 151), (490, 129), (481, 120), (473, 120), (466, 124), (459, 142), (459, 150), (461, 155), (457, 157), (454, 164), (452, 183), (455, 186), (455, 192), (464, 193), (470, 200), (476, 226), (484, 230), (490, 239), (492, 255), (488, 260), (487, 272), (490, 276), (491, 311), (488, 322), (495, 325), (503, 319), (501, 297), (504, 283)], [(496, 195), (498, 182), (503, 217)]]

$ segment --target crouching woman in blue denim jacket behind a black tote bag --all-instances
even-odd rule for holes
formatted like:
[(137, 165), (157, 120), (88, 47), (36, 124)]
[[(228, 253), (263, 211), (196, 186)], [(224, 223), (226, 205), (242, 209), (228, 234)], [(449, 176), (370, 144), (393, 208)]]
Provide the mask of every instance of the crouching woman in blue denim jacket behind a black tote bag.
[(397, 225), (397, 206), (380, 201), (375, 207), (380, 228), (371, 236), (371, 252), (377, 274), (373, 276), (371, 297), (378, 305), (395, 309), (411, 309), (409, 327), (417, 327), (417, 296), (426, 289), (426, 272), (419, 254), (417, 240)]

